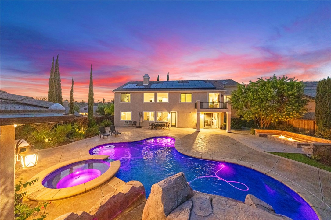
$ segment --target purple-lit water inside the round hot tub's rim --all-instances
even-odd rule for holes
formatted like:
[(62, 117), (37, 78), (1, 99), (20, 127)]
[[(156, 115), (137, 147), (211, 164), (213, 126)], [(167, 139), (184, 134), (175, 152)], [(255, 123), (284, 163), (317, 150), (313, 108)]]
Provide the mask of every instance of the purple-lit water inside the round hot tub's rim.
[(42, 185), (51, 189), (77, 186), (99, 177), (109, 166), (109, 162), (98, 159), (79, 161), (51, 172), (43, 179)]

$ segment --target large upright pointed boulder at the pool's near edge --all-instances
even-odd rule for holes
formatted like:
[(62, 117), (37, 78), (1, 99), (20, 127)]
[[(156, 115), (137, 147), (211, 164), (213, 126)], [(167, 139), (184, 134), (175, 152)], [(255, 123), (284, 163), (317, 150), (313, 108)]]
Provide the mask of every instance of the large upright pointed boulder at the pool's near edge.
[(142, 219), (164, 220), (179, 205), (193, 196), (193, 190), (187, 183), (184, 173), (179, 172), (151, 188)]

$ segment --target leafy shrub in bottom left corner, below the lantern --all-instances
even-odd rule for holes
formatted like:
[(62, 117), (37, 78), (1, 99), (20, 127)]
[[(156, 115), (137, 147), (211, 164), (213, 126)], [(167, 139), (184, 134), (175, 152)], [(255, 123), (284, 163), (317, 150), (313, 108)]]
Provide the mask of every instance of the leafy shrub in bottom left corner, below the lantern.
[[(27, 219), (33, 214), (37, 214), (41, 209), (46, 208), (48, 205), (48, 202), (44, 202), (43, 205), (36, 206), (34, 208), (30, 208), (27, 204), (22, 203), (23, 196), (26, 194), (26, 192), (21, 192), (22, 186), (23, 189), (27, 187), (28, 185), (31, 186), (33, 183), (37, 182), (38, 178), (29, 181), (29, 182), (22, 182), (22, 180), (19, 181), (18, 184), (15, 185), (15, 208), (14, 208), (14, 214), (15, 214), (15, 220), (23, 220)], [(20, 193), (21, 192), (21, 193)], [(52, 204), (52, 202), (50, 202)], [(39, 218), (35, 220), (43, 220), (46, 218), (46, 214), (42, 214)]]

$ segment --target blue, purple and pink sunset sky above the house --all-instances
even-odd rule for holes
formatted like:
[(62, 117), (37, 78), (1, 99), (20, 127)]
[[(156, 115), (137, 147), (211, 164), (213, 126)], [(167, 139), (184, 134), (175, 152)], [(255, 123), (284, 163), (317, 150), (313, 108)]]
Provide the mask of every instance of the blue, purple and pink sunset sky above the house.
[(331, 76), (331, 1), (1, 1), (1, 89), (112, 99), (127, 81)]

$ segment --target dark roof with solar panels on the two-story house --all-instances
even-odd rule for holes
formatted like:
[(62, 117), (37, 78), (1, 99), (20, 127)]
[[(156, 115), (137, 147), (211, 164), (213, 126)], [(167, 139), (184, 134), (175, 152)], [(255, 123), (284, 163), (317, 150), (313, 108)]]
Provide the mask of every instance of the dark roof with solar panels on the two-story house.
[(113, 90), (120, 91), (180, 91), (180, 90), (206, 90), (206, 91), (226, 91), (224, 87), (237, 86), (233, 80), (175, 80), (175, 81), (150, 81), (148, 85), (143, 85), (143, 81), (130, 81)]

